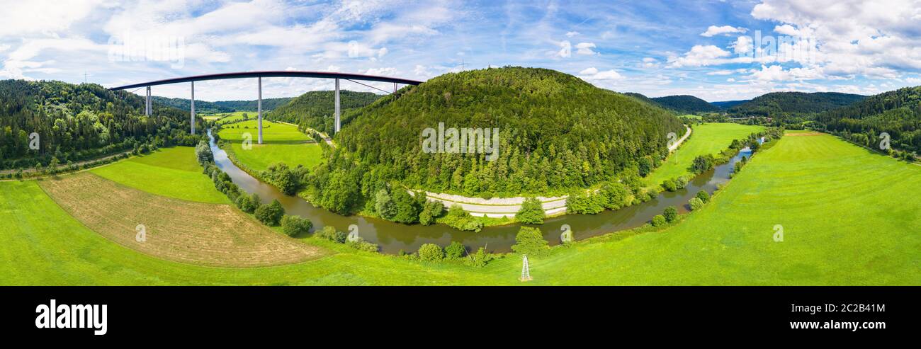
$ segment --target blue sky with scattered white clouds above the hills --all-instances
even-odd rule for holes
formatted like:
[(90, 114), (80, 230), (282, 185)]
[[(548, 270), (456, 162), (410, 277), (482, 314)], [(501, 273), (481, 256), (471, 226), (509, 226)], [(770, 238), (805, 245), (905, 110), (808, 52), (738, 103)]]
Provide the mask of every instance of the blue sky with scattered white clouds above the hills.
[[(289, 69), (425, 80), (522, 65), (616, 91), (710, 101), (921, 85), (918, 0), (0, 3), (9, 18), (0, 28), (0, 78), (86, 77), (113, 87)], [(795, 41), (778, 45), (782, 38)], [(123, 43), (134, 56), (122, 54)], [(265, 98), (330, 88), (328, 80), (263, 79)], [(195, 92), (255, 99), (256, 87), (225, 80), (201, 82)], [(189, 87), (154, 94), (187, 98)]]

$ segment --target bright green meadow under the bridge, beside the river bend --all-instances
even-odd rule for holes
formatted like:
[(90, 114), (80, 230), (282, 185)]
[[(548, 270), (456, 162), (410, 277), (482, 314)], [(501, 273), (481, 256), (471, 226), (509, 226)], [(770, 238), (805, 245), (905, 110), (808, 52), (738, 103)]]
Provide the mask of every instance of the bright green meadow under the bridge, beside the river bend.
[[(218, 133), (221, 139), (230, 144), (236, 159), (244, 166), (255, 171), (268, 169), (269, 165), (284, 162), (289, 167), (302, 165), (312, 169), (322, 161), (320, 145), (310, 142), (307, 134), (297, 131), (297, 127), (277, 122), (262, 121), (262, 145), (257, 144), (258, 125), (255, 121), (239, 122), (224, 128)], [(243, 134), (251, 134), (252, 148), (243, 149)]]

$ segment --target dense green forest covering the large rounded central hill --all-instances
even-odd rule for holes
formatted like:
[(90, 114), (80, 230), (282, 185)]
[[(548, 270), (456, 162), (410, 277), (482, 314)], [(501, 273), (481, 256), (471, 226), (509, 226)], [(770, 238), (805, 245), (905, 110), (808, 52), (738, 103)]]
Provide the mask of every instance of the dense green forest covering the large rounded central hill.
[[(498, 129), (497, 157), (423, 152), (424, 130), (439, 122)], [(356, 111), (329, 161), (310, 176), (308, 194), (332, 211), (354, 212), (364, 203), (373, 214), (381, 190), (565, 193), (635, 175), (640, 159), (667, 154), (670, 132), (683, 132), (670, 111), (553, 70), (447, 74)]]

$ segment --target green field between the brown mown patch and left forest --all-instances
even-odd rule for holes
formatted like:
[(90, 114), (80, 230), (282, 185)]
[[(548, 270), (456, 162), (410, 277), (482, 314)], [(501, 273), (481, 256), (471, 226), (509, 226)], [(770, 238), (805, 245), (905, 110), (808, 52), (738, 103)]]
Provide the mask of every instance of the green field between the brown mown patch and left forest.
[(92, 169), (91, 172), (129, 187), (157, 195), (212, 204), (229, 204), (202, 174), (190, 146), (161, 148), (150, 155)]

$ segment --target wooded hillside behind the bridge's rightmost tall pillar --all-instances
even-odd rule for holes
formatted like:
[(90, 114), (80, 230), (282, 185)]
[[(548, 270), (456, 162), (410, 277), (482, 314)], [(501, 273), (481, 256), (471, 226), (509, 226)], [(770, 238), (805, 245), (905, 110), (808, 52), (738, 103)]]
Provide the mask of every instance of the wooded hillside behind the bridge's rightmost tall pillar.
[[(365, 107), (382, 96), (371, 92), (339, 91), (342, 108), (342, 125), (352, 121), (354, 110)], [(326, 134), (332, 134), (335, 120), (335, 91), (310, 91), (291, 99), (285, 105), (268, 114), (269, 120), (297, 123), (301, 128), (310, 127)]]

